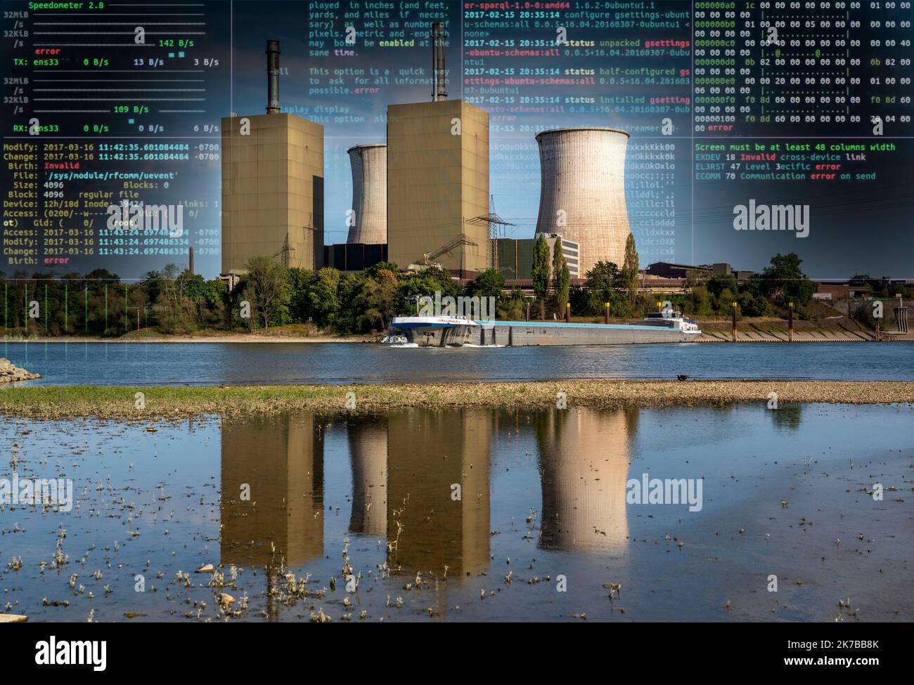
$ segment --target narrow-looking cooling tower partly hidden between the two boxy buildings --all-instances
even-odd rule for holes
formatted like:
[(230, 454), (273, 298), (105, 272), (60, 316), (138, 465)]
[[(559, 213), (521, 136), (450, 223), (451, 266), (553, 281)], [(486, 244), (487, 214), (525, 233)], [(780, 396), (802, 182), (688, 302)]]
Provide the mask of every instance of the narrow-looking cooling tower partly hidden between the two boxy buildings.
[(352, 166), (354, 224), (347, 243), (388, 241), (388, 146), (382, 142), (348, 150)]

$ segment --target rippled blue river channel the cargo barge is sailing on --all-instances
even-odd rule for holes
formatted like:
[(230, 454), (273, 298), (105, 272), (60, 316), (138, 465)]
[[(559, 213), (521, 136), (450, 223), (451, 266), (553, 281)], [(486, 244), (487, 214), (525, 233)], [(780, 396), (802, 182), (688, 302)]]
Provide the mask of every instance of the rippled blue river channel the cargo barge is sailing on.
[(372, 343), (4, 342), (29, 385), (248, 385), (575, 378), (914, 380), (907, 342), (404, 348)]

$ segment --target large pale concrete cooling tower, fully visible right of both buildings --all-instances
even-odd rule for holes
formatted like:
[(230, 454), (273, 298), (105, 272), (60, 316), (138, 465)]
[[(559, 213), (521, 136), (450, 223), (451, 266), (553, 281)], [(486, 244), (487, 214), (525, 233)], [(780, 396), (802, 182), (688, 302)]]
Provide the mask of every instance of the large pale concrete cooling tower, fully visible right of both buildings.
[(580, 246), (581, 278), (598, 261), (622, 267), (629, 228), (625, 150), (616, 129), (553, 129), (537, 134), (542, 184), (537, 233), (561, 233)]

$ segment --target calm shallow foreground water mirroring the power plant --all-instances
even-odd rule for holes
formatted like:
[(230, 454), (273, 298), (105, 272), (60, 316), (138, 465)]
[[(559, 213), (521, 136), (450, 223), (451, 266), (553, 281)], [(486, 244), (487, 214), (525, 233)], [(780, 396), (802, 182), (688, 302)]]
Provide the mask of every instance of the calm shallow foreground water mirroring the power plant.
[[(73, 479), (76, 503), (0, 511), (0, 610), (910, 621), (912, 419), (910, 406), (761, 404), (8, 420), (0, 476)], [(701, 510), (626, 501), (643, 473), (704, 479)], [(193, 573), (203, 564), (221, 565), (237, 616)]]

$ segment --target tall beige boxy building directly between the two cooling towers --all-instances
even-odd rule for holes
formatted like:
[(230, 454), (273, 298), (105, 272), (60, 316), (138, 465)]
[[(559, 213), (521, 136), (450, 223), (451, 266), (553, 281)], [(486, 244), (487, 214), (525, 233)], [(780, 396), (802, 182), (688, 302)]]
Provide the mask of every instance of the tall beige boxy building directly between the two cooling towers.
[[(464, 275), (488, 267), (489, 115), (462, 100), (388, 107), (388, 257)], [(469, 274), (467, 274), (469, 275)]]

